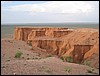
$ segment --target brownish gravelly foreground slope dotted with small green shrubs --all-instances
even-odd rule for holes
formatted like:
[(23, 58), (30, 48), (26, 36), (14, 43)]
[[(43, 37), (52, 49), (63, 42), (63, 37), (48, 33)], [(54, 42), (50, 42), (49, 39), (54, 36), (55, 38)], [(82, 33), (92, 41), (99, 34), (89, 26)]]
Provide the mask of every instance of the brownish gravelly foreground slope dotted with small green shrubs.
[[(18, 50), (21, 58), (15, 58)], [(99, 75), (99, 68), (63, 62), (24, 41), (5, 38), (1, 40), (1, 75)]]

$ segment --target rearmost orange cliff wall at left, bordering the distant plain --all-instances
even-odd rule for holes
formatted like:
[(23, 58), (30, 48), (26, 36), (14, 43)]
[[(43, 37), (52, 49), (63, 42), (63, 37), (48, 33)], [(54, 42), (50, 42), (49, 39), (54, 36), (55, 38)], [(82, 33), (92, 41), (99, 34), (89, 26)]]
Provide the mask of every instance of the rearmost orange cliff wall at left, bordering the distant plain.
[[(28, 35), (29, 39), (35, 37), (35, 36), (43, 36), (46, 35), (48, 37), (53, 37), (53, 31), (54, 30), (67, 30), (68, 28), (33, 28), (33, 27), (16, 27), (14, 29), (14, 39), (15, 40), (23, 40), (27, 41), (28, 40)], [(32, 31), (33, 30), (33, 31)], [(41, 33), (42, 32), (42, 33)], [(45, 33), (45, 34), (44, 34)], [(32, 35), (33, 34), (33, 35)]]

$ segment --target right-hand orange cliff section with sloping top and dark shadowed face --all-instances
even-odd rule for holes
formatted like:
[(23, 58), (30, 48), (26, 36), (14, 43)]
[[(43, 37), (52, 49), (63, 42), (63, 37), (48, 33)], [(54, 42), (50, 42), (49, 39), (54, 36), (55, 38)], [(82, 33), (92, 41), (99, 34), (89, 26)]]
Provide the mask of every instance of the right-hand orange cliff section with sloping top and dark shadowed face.
[[(71, 34), (62, 37), (71, 48), (63, 56), (71, 56), (73, 62), (81, 62), (90, 58), (96, 51), (99, 51), (99, 33), (92, 29), (77, 29)], [(69, 43), (68, 43), (69, 41)], [(83, 53), (83, 54), (82, 54)]]

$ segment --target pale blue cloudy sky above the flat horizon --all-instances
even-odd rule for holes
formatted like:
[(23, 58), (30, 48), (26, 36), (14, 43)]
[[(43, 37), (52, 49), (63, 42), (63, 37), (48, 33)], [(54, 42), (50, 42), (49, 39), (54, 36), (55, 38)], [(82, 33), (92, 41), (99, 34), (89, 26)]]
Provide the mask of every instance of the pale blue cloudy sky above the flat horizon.
[(1, 24), (99, 23), (99, 1), (1, 1)]

